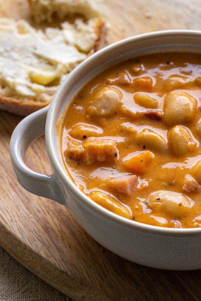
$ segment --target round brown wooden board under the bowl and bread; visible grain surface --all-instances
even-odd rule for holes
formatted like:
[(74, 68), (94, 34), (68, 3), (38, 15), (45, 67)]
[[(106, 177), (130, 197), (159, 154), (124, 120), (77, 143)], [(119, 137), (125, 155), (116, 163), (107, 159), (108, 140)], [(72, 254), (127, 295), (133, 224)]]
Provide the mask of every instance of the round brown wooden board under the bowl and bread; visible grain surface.
[[(108, 42), (159, 29), (200, 29), (201, 6), (189, 0), (110, 0)], [(0, 15), (30, 20), (25, 0), (0, 0)], [(20, 117), (0, 112), (0, 244), (40, 278), (76, 301), (200, 300), (200, 271), (172, 272), (131, 263), (103, 249), (68, 209), (17, 183), (9, 140)], [(51, 173), (44, 137), (26, 156)], [(193, 254), (192, 254), (193, 256)]]

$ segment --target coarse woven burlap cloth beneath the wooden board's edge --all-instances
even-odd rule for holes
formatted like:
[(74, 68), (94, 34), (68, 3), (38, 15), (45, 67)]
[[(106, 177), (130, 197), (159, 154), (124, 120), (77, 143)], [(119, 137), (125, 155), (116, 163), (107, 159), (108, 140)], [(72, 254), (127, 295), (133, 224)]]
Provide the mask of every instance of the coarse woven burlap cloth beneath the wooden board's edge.
[(0, 301), (73, 301), (42, 281), (0, 247)]

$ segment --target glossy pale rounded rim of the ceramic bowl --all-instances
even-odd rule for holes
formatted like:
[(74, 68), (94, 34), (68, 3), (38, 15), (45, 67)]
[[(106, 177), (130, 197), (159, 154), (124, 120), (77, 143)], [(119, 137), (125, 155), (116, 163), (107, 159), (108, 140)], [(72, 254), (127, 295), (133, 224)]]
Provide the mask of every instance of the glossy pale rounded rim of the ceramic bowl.
[[(127, 43), (133, 43), (136, 40), (144, 40), (144, 39), (150, 39), (150, 38), (159, 38), (160, 36), (195, 36), (199, 37), (201, 39), (201, 31), (199, 30), (183, 30), (183, 29), (177, 29), (177, 30), (162, 30), (162, 31), (155, 31), (150, 33), (143, 33), (136, 36), (131, 36), (126, 39), (120, 40), (118, 42), (115, 42), (111, 45), (108, 45), (96, 53), (92, 54), (90, 57), (88, 57), (86, 60), (84, 60), (82, 63), (80, 63), (74, 70), (71, 71), (68, 78), (64, 80), (64, 82), (59, 86), (57, 92), (55, 93), (52, 102), (49, 106), (47, 119), (46, 119), (46, 148), (47, 153), (49, 156), (49, 160), (51, 163), (51, 166), (53, 168), (53, 171), (58, 175), (59, 180), (63, 183), (65, 188), (68, 190), (68, 193), (71, 194), (71, 196), (76, 199), (77, 202), (81, 203), (82, 206), (84, 206), (87, 210), (90, 210), (93, 212), (93, 214), (101, 215), (102, 218), (109, 219), (110, 222), (115, 222), (121, 225), (122, 227), (127, 228), (133, 228), (137, 231), (141, 232), (147, 232), (152, 234), (158, 234), (158, 235), (165, 235), (165, 236), (197, 236), (201, 234), (201, 227), (196, 228), (168, 228), (168, 227), (161, 227), (161, 226), (154, 226), (149, 224), (144, 224), (141, 222), (134, 221), (132, 219), (127, 219), (125, 217), (119, 216), (104, 207), (100, 206), (99, 204), (95, 203), (93, 200), (91, 200), (89, 197), (86, 196), (71, 180), (68, 173), (64, 170), (64, 167), (62, 166), (59, 158), (58, 158), (58, 152), (57, 152), (57, 143), (54, 141), (54, 130), (56, 128), (56, 122), (58, 119), (56, 119), (56, 115), (59, 110), (59, 103), (63, 100), (64, 94), (65, 94), (65, 87), (69, 85), (69, 82), (73, 77), (76, 76), (77, 73), (80, 72), (81, 69), (85, 68), (87, 64), (93, 62), (96, 60), (97, 57), (103, 56), (105, 52), (107, 51), (113, 51), (116, 48), (127, 44)], [(201, 48), (201, 47), (200, 47)], [(117, 60), (118, 61), (118, 60)], [(67, 205), (68, 206), (68, 205)], [(79, 222), (79, 221), (78, 221)]]

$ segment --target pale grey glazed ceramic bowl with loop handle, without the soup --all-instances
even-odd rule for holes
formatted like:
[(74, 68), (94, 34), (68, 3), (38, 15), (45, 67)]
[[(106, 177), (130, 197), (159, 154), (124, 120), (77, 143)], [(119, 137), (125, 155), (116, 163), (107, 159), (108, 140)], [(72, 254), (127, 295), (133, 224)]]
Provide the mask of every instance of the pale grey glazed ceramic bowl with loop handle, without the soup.
[[(71, 181), (61, 163), (56, 123), (75, 92), (107, 65), (133, 55), (157, 51), (201, 52), (201, 32), (161, 31), (134, 36), (103, 48), (76, 67), (56, 92), (49, 107), (23, 119), (13, 132), (11, 162), (18, 181), (28, 191), (67, 206), (95, 240), (112, 252), (142, 265), (190, 270), (201, 268), (201, 228), (163, 228), (118, 216), (99, 206)], [(28, 145), (45, 132), (52, 175), (24, 163)]]

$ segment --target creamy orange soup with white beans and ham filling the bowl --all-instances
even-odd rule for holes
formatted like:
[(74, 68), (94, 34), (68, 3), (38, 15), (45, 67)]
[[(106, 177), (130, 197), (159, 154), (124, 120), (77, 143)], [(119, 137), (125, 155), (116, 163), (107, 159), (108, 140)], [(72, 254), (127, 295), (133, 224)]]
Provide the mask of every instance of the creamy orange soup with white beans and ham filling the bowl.
[(134, 57), (93, 78), (61, 127), (66, 171), (106, 209), (201, 227), (201, 55)]

